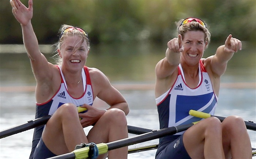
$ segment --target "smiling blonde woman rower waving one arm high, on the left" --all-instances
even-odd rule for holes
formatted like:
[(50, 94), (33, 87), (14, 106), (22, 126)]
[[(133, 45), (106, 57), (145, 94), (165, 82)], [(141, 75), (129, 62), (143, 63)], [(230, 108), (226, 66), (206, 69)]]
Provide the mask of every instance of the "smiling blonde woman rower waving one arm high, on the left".
[[(39, 51), (33, 31), (32, 0), (29, 8), (11, 0), (12, 13), (22, 27), (23, 42), (37, 82), (36, 115), (52, 115), (45, 127), (34, 130), (30, 159), (45, 159), (65, 154), (81, 143), (107, 143), (128, 137), (126, 116), (129, 112), (124, 97), (97, 68), (85, 66), (90, 44), (88, 34), (79, 27), (63, 25), (57, 43), (59, 65), (49, 63)], [(110, 108), (98, 110), (93, 101), (98, 97)], [(79, 113), (77, 107), (87, 109)], [(79, 118), (81, 120), (79, 120)], [(86, 135), (83, 128), (93, 126)], [(127, 158), (128, 148), (118, 148), (98, 158)]]

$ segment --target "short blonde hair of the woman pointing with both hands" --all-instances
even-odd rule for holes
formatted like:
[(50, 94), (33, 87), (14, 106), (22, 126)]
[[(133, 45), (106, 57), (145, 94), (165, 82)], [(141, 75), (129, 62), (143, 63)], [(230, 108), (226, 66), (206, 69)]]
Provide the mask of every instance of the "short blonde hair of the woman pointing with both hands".
[(211, 33), (208, 31), (208, 29), (196, 21), (191, 21), (189, 23), (180, 25), (183, 20), (184, 19), (181, 19), (180, 21), (175, 22), (177, 26), (178, 34), (182, 36), (182, 39), (184, 37), (184, 34), (188, 31), (202, 31), (204, 32), (204, 35), (205, 35), (204, 42), (205, 43), (207, 42), (207, 45), (206, 45), (206, 48), (207, 48), (211, 38)]

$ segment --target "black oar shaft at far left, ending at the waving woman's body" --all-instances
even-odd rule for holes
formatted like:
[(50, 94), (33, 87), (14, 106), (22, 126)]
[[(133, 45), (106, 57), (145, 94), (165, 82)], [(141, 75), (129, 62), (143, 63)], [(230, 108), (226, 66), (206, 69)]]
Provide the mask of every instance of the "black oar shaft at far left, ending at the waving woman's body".
[(21, 124), (19, 126), (15, 126), (15, 127), (12, 127), (12, 128), (5, 129), (5, 130), (0, 132), (0, 139), (5, 138), (7, 136), (17, 134), (19, 132), (30, 130), (32, 128), (35, 128), (35, 127), (38, 127), (38, 126), (41, 126), (41, 125), (44, 125), (44, 124), (47, 123), (47, 121), (50, 119), (50, 117), (51, 117), (51, 115), (47, 115), (47, 116), (44, 116), (42, 118), (38, 118), (38, 119), (35, 119), (35, 120), (30, 120), (25, 124)]

